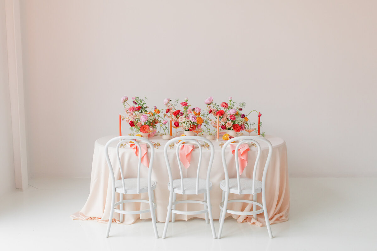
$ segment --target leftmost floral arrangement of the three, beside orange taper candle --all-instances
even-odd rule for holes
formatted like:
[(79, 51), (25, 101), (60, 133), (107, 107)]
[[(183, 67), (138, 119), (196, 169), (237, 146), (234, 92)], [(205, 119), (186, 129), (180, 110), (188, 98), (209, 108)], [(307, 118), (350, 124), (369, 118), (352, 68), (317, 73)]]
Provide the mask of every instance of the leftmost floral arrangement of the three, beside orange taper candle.
[[(147, 97), (144, 97), (147, 99)], [(127, 96), (121, 98), (121, 103), (123, 103), (124, 111), (126, 116), (122, 117), (130, 125), (131, 131), (148, 132), (150, 128), (156, 128), (159, 123), (159, 113), (160, 111), (155, 106), (153, 110), (148, 111), (149, 106), (146, 105), (144, 99), (139, 97), (132, 97), (132, 104), (130, 105), (127, 101), (129, 100)], [(128, 105), (128, 106), (127, 106)]]

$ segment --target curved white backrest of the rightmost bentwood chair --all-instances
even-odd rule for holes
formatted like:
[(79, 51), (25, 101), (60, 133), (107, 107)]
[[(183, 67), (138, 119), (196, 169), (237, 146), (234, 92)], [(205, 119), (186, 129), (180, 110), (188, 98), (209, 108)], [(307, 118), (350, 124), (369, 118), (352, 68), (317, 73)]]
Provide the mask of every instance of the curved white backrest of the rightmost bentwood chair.
[[(248, 143), (248, 142), (254, 143), (258, 148), (258, 154), (257, 154), (257, 158), (255, 160), (254, 170), (253, 170), (253, 186), (252, 186), (252, 189), (253, 189), (253, 195), (254, 195), (255, 194), (256, 172), (257, 172), (259, 158), (261, 157), (261, 152), (262, 152), (261, 145), (259, 145), (259, 143), (257, 141), (264, 141), (268, 145), (268, 156), (267, 156), (267, 160), (266, 160), (266, 163), (265, 163), (265, 166), (264, 166), (263, 176), (262, 176), (262, 189), (263, 190), (265, 189), (267, 169), (268, 169), (268, 165), (270, 164), (270, 160), (271, 160), (271, 156), (272, 156), (272, 145), (271, 145), (271, 142), (269, 140), (262, 138), (260, 136), (240, 136), (240, 137), (237, 137), (236, 140), (239, 141), (237, 146), (236, 146), (235, 152), (234, 152), (234, 155), (235, 155), (234, 160), (236, 161), (238, 194), (241, 194), (241, 181), (240, 181), (240, 177), (239, 177), (240, 174), (239, 174), (238, 149), (242, 144)], [(222, 147), (222, 151), (221, 151), (222, 164), (224, 166), (224, 173), (225, 173), (225, 187), (226, 187), (227, 190), (229, 189), (229, 175), (228, 175), (227, 162), (225, 160), (225, 151), (227, 149), (227, 146), (229, 144), (231, 144), (232, 142), (233, 142), (232, 140), (228, 140), (224, 144), (224, 146)]]

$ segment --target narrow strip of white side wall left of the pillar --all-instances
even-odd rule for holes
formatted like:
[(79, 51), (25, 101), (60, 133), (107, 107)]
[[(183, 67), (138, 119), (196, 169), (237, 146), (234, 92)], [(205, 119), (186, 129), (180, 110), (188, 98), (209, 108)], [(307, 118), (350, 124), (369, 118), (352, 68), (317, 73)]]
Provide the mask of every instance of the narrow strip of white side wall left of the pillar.
[(0, 0), (0, 195), (15, 189), (5, 1)]

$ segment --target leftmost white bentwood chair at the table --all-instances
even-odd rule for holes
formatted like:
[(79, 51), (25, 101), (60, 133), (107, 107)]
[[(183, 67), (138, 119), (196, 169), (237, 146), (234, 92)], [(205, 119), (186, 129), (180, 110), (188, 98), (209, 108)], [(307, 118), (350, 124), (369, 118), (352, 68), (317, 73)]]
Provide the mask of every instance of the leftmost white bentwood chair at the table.
[[(119, 155), (119, 148), (121, 144), (125, 144), (126, 142), (132, 140), (137, 149), (138, 149), (138, 175), (137, 178), (124, 178), (123, 175), (123, 168), (122, 163), (120, 161), (120, 155)], [(136, 141), (137, 140), (137, 141)], [(113, 142), (118, 142), (118, 145), (116, 145), (116, 156), (118, 159), (118, 165), (120, 169), (120, 180), (115, 180), (113, 166), (111, 164), (110, 158), (109, 158), (109, 146)], [(140, 143), (146, 143), (150, 146), (150, 161), (149, 161), (149, 170), (148, 170), (148, 178), (140, 178), (140, 166), (141, 166), (141, 147)], [(153, 144), (143, 137), (138, 136), (118, 136), (115, 138), (112, 138), (106, 143), (105, 146), (105, 155), (107, 160), (107, 165), (109, 166), (110, 173), (109, 176), (112, 181), (112, 197), (111, 197), (111, 208), (110, 208), (110, 216), (109, 216), (109, 224), (107, 225), (107, 231), (106, 231), (106, 237), (109, 237), (110, 233), (110, 227), (113, 219), (114, 211), (117, 213), (120, 213), (120, 222), (123, 222), (123, 214), (141, 214), (141, 213), (148, 213), (150, 212), (150, 215), (152, 217), (152, 225), (153, 230), (155, 231), (155, 236), (158, 238), (158, 231), (156, 227), (156, 204), (155, 204), (155, 197), (154, 197), (154, 190), (156, 189), (156, 181), (153, 181), (152, 178), (152, 167), (153, 167), (153, 158), (155, 155), (155, 149), (153, 148)], [(119, 193), (120, 199), (119, 202), (115, 203), (115, 193)], [(140, 193), (148, 193), (148, 200), (144, 199), (127, 199), (123, 200), (123, 194), (140, 194)], [(149, 208), (144, 210), (138, 210), (138, 211), (124, 211), (123, 210), (123, 204), (129, 203), (129, 202), (144, 202), (149, 203)], [(120, 209), (115, 208), (117, 205), (120, 205)]]

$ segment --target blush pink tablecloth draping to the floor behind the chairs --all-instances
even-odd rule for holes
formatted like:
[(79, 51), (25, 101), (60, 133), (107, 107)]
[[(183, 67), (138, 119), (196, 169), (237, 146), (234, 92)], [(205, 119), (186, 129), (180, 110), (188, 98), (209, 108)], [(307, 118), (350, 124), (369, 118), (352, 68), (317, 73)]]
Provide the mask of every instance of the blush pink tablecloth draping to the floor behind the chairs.
[[(104, 146), (107, 141), (112, 138), (111, 136), (103, 137), (95, 141), (94, 154), (93, 154), (93, 164), (92, 164), (92, 175), (90, 181), (90, 193), (89, 197), (84, 204), (84, 207), (71, 215), (72, 219), (80, 220), (97, 220), (98, 222), (106, 223), (109, 221), (110, 203), (111, 203), (111, 180), (109, 179), (109, 168), (106, 163)], [(279, 223), (288, 220), (289, 208), (290, 208), (290, 193), (289, 193), (289, 182), (288, 182), (288, 167), (287, 167), (287, 146), (285, 141), (279, 137), (274, 137), (267, 135), (266, 137), (271, 141), (273, 145), (273, 155), (270, 161), (270, 166), (268, 167), (267, 179), (266, 179), (266, 201), (268, 216), (270, 218), (270, 223)], [(155, 189), (155, 200), (157, 204), (156, 208), (156, 218), (159, 222), (165, 222), (167, 205), (169, 202), (169, 190), (167, 189), (167, 183), (169, 182), (169, 177), (166, 169), (166, 164), (164, 160), (164, 145), (167, 140), (163, 140), (162, 137), (155, 136), (152, 141), (159, 142), (161, 146), (155, 149), (155, 160), (153, 162), (153, 172), (152, 180), (157, 182), (157, 187)], [(211, 190), (211, 204), (213, 206), (212, 214), (214, 219), (219, 219), (220, 208), (219, 204), (221, 202), (222, 190), (219, 187), (221, 180), (224, 180), (224, 168), (222, 166), (221, 160), (221, 147), (219, 142), (216, 140), (212, 141), (215, 146), (215, 158), (213, 161), (213, 166), (211, 169), (211, 182), (213, 183), (213, 188)], [(262, 173), (264, 169), (264, 163), (267, 158), (268, 148), (263, 142), (261, 142), (262, 154), (261, 160), (259, 161), (259, 167), (257, 170), (257, 179), (262, 180)], [(116, 144), (109, 147), (109, 155), (112, 163), (116, 161)], [(173, 178), (179, 178), (179, 169), (176, 160), (176, 149), (168, 149), (168, 156), (170, 164), (172, 166)], [(196, 167), (198, 166), (198, 153), (199, 151), (194, 150), (192, 152), (191, 164), (188, 169), (183, 169), (184, 176), (195, 177)], [(241, 178), (252, 178), (254, 161), (257, 155), (257, 148), (254, 146), (250, 147), (248, 151), (248, 165), (241, 175)], [(120, 149), (120, 157), (123, 163), (125, 178), (136, 177), (137, 174), (137, 157), (135, 152), (128, 146), (126, 148)], [(148, 158), (150, 157), (150, 152), (148, 152)], [(210, 157), (210, 151), (203, 148), (203, 159), (202, 167), (200, 171), (201, 178), (205, 178), (207, 174), (208, 160)], [(231, 154), (231, 149), (227, 149), (226, 160), (228, 163), (228, 173), (229, 177), (235, 177), (236, 168), (234, 155)], [(176, 167), (176, 168), (173, 168)], [(119, 168), (114, 167), (115, 178), (120, 179)], [(147, 177), (148, 168), (141, 166), (141, 177)], [(201, 197), (198, 197), (201, 196)], [(124, 199), (148, 199), (148, 194), (144, 193), (141, 195), (125, 195)], [(182, 199), (202, 199), (202, 195), (177, 195), (177, 200)], [(235, 195), (230, 194), (229, 199), (250, 199), (252, 200), (252, 195)], [(116, 198), (116, 201), (119, 201)], [(262, 203), (261, 193), (257, 195), (257, 201)], [(124, 210), (140, 210), (149, 208), (146, 203), (126, 203), (124, 204)], [(250, 211), (250, 206), (247, 203), (230, 203), (228, 208), (232, 210), (245, 210)], [(202, 210), (202, 205), (193, 204), (178, 204), (176, 206), (177, 210)], [(230, 216), (227, 214), (226, 216)], [(251, 216), (239, 216), (231, 215), (233, 218), (238, 219), (238, 222), (247, 221), (250, 224), (256, 224), (258, 226), (264, 226), (264, 215), (263, 213), (257, 215), (257, 220), (253, 219)], [(204, 218), (204, 214), (199, 215), (180, 215), (176, 214), (176, 219), (188, 220), (193, 217)], [(138, 218), (148, 219), (150, 218), (150, 213), (144, 214), (125, 214), (123, 224), (132, 224)], [(114, 213), (113, 221), (119, 223), (119, 213)]]

